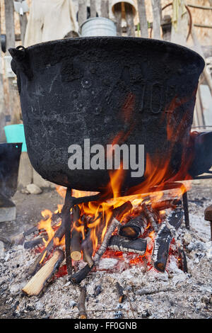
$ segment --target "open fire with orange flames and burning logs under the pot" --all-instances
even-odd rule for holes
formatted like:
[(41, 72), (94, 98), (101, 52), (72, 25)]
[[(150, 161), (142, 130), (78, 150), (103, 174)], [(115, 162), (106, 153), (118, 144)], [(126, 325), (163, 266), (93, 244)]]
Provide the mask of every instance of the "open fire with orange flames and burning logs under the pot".
[[(73, 283), (80, 283), (90, 271), (101, 270), (100, 259), (105, 258), (116, 259), (115, 266), (108, 267), (107, 272), (122, 271), (133, 265), (163, 272), (170, 255), (175, 256), (180, 269), (187, 271), (182, 244), (177, 239), (183, 220), (182, 197), (187, 188), (181, 183), (175, 186), (170, 183), (170, 188), (166, 185), (145, 194), (119, 196), (122, 172), (120, 169), (111, 174), (113, 198), (82, 202), (68, 209), (71, 231), (68, 251), (67, 231), (60, 232), (62, 205), (54, 213), (42, 211), (43, 219), (37, 230), (25, 232), (25, 236), (36, 234), (33, 240), (25, 242), (25, 248), (36, 247), (35, 251), (40, 252), (30, 267), (33, 278), (23, 288), (26, 294), (38, 295), (53, 275), (68, 273)], [(57, 192), (66, 198), (66, 188), (57, 186)], [(78, 200), (98, 193), (73, 190), (69, 195)]]

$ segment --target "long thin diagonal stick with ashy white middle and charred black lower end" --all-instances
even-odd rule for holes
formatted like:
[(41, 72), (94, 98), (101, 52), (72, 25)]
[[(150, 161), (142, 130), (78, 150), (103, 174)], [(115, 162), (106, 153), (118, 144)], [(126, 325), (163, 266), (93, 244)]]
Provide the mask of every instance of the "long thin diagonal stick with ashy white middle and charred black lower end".
[[(117, 218), (122, 218), (122, 215), (124, 215), (124, 213), (126, 213), (127, 211), (131, 210), (131, 208), (132, 205), (130, 201), (126, 201), (126, 203), (123, 203), (123, 205), (114, 208), (112, 221), (108, 223), (109, 227), (107, 228), (103, 242), (93, 258), (93, 266), (96, 266), (99, 263), (102, 254), (107, 249), (107, 245), (112, 233), (120, 225), (120, 222), (117, 220)], [(83, 269), (81, 269), (81, 271), (78, 271), (77, 273), (74, 273), (73, 276), (71, 276), (71, 281), (73, 283), (80, 283), (81, 281), (83, 281), (83, 279), (86, 278), (88, 273), (90, 273), (91, 269), (93, 269), (93, 266), (90, 267), (87, 264)]]

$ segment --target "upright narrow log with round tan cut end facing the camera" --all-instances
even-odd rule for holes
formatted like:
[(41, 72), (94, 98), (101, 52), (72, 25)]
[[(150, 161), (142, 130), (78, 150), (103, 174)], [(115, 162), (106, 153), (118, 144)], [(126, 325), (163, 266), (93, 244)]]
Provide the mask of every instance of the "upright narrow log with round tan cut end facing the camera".
[(80, 218), (80, 211), (78, 205), (73, 208), (73, 230), (71, 232), (71, 259), (78, 261), (81, 260), (81, 232), (75, 229), (78, 227), (78, 219)]

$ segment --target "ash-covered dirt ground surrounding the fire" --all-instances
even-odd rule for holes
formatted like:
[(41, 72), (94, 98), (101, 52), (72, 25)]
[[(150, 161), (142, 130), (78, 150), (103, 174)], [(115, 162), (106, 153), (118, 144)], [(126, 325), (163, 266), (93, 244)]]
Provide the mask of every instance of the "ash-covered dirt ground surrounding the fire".
[[(192, 181), (188, 192), (191, 230), (182, 225), (179, 232), (188, 261), (188, 273), (180, 271), (171, 258), (165, 273), (143, 271), (142, 267), (114, 269), (114, 259), (103, 258), (101, 270), (86, 278), (88, 318), (211, 318), (212, 317), (212, 252), (209, 222), (204, 210), (212, 204), (212, 180)], [(0, 258), (0, 318), (77, 318), (75, 307), (80, 289), (72, 286), (67, 276), (50, 283), (39, 297), (28, 298), (21, 288), (28, 281), (25, 267), (35, 260), (35, 252), (23, 245), (9, 244), (40, 220), (43, 209), (56, 210), (63, 199), (56, 191), (39, 195), (17, 192), (13, 197), (17, 218), (0, 224), (4, 239), (4, 256)], [(119, 304), (114, 281), (124, 286), (126, 300)], [(95, 295), (100, 286), (99, 295)]]

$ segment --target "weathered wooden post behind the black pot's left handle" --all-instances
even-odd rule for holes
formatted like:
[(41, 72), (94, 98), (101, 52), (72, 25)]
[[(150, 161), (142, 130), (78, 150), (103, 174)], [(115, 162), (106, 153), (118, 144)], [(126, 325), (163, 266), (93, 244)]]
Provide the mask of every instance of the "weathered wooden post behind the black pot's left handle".
[[(16, 47), (13, 0), (4, 0), (4, 9), (6, 26), (6, 56), (9, 57), (8, 48)], [(21, 115), (16, 77), (8, 77), (8, 90), (11, 123), (16, 124), (19, 123)]]

